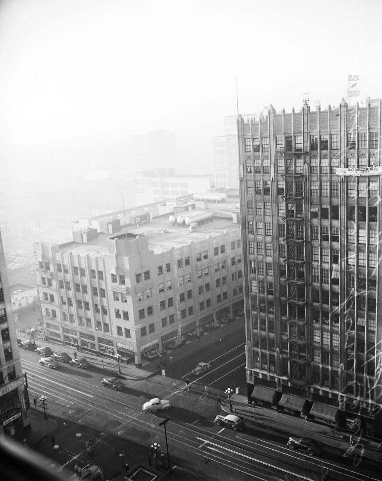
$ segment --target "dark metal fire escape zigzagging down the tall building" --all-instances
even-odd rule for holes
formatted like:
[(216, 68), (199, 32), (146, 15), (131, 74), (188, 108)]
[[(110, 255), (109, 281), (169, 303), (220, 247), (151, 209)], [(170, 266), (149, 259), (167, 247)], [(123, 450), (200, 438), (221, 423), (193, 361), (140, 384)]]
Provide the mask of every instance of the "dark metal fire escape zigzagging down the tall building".
[(305, 232), (304, 232), (304, 157), (308, 152), (308, 108), (303, 103), (302, 146), (286, 146), (284, 151), (285, 233), (286, 244), (286, 316), (288, 344), (288, 381), (292, 385), (306, 384), (306, 293), (305, 293)]

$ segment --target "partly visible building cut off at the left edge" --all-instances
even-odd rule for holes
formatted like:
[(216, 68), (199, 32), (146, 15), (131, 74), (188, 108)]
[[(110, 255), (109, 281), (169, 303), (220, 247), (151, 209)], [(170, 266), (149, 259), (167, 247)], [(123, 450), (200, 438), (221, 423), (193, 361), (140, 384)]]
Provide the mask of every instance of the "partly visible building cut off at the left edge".
[(29, 398), (21, 372), (1, 233), (0, 331), (0, 435), (14, 435), (30, 424)]

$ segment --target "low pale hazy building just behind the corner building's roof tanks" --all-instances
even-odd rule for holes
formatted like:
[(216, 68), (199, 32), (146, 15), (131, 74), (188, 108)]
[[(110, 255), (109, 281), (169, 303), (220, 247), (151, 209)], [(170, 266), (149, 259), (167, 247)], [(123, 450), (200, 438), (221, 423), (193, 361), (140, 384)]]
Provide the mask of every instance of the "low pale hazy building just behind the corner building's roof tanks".
[(138, 206), (209, 191), (213, 186), (213, 175), (178, 174), (174, 168), (145, 170), (135, 174), (134, 179)]

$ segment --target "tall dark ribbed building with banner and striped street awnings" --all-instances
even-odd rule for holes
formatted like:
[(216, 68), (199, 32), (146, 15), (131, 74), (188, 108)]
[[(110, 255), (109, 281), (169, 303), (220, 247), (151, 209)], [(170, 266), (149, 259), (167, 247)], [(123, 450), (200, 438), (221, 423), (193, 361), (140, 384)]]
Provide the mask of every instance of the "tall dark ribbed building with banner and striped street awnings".
[(381, 436), (381, 102), (239, 117), (248, 399)]

